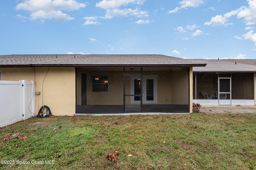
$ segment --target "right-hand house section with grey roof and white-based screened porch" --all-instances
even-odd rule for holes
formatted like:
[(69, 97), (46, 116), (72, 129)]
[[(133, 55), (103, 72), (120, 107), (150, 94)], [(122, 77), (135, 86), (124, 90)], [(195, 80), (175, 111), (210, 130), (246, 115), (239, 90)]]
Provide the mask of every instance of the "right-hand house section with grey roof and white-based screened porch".
[(256, 60), (203, 60), (193, 67), (193, 102), (201, 105), (256, 105)]

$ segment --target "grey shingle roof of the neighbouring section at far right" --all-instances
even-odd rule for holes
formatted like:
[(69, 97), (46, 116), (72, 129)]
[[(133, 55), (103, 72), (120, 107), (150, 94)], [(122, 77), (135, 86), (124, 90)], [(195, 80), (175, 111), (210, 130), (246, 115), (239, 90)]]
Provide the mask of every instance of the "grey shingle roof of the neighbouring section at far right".
[[(250, 60), (204, 60), (194, 61), (206, 63), (205, 67), (193, 67), (193, 72), (256, 72), (256, 64)], [(256, 62), (256, 61), (255, 61)]]

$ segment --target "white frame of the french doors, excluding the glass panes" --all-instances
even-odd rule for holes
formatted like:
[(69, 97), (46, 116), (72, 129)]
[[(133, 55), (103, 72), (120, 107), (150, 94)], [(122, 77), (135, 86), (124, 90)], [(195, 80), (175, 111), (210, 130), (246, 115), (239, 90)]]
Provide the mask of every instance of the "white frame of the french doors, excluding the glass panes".
[[(131, 78), (131, 94), (134, 94), (134, 79), (140, 78), (140, 76), (130, 76)], [(147, 100), (147, 91), (146, 91), (146, 80), (147, 79), (153, 79), (153, 96), (154, 100)], [(141, 87), (142, 87), (142, 104), (157, 104), (157, 75), (143, 75)], [(131, 104), (140, 104), (140, 100), (135, 101), (134, 96), (131, 96)]]

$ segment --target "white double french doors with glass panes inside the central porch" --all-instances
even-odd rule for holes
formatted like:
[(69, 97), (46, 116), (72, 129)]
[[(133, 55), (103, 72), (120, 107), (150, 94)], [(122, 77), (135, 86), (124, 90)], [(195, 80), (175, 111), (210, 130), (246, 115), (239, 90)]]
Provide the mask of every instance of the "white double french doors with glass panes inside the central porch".
[[(142, 88), (142, 103), (157, 103), (157, 76), (131, 76), (131, 94), (140, 95)], [(132, 104), (140, 104), (140, 96), (132, 96)]]

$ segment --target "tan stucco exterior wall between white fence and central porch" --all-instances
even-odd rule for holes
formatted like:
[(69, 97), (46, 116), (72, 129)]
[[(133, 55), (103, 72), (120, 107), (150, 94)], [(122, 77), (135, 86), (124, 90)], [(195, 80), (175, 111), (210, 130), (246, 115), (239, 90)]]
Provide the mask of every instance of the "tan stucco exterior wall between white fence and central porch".
[[(40, 95), (36, 95), (35, 98), (36, 115), (42, 105), (50, 107), (53, 115), (74, 115), (76, 112), (75, 68), (51, 67), (49, 70), (48, 68), (1, 68), (1, 80), (35, 81), (35, 91), (40, 92)], [(44, 86), (42, 86), (43, 80)]]

